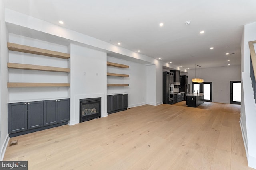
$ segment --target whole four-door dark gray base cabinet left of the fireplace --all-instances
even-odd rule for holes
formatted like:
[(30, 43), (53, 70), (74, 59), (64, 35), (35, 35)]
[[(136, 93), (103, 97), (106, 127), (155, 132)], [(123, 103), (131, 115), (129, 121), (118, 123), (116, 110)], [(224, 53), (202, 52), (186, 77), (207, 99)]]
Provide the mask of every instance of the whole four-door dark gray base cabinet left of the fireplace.
[(68, 124), (69, 99), (8, 104), (10, 137)]

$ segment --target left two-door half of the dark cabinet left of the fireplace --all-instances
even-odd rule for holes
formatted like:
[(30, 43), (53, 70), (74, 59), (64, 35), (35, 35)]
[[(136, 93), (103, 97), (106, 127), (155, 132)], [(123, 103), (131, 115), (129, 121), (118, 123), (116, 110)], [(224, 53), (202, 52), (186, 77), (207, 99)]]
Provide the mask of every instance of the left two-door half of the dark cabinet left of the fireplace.
[(44, 126), (43, 101), (8, 104), (8, 132), (16, 133)]

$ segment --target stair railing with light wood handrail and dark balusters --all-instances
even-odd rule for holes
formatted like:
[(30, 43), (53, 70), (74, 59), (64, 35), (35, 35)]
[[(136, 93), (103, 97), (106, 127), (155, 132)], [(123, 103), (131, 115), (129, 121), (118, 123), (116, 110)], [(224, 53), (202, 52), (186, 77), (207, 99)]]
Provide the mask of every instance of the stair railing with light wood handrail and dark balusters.
[[(254, 43), (256, 41), (250, 41), (249, 42), (249, 48), (250, 48), (250, 75), (251, 75), (251, 80), (252, 80), (252, 88), (254, 92), (254, 99), (256, 96), (256, 81), (255, 81), (255, 75), (256, 75), (256, 53), (254, 49)], [(255, 100), (256, 103), (256, 100)]]

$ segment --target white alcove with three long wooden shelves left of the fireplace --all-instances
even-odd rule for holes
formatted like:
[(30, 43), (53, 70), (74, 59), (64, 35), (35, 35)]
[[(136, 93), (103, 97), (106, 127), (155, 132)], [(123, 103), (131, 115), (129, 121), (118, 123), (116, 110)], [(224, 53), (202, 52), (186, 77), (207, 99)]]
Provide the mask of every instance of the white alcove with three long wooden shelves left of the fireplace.
[(8, 103), (70, 97), (68, 43), (9, 34)]

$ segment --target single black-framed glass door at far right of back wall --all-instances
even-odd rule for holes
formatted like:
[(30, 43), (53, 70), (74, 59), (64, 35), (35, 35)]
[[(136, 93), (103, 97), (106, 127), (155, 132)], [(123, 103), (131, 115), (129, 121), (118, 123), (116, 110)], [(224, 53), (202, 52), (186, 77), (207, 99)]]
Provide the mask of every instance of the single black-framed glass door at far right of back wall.
[(241, 81), (230, 82), (230, 104), (241, 104)]

